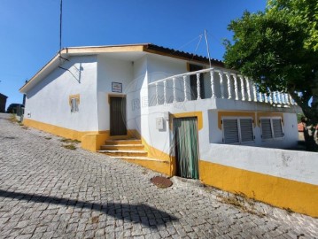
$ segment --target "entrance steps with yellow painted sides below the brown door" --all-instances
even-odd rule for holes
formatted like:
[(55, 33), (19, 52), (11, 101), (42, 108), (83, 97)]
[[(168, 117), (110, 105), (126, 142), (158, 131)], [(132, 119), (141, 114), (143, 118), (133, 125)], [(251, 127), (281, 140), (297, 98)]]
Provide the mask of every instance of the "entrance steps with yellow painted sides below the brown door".
[(130, 163), (145, 166), (160, 173), (169, 174), (170, 172), (169, 162), (162, 159), (149, 158), (148, 152), (144, 150), (144, 145), (139, 139), (110, 139), (97, 152), (105, 153), (111, 158), (119, 158)]

